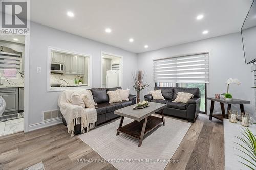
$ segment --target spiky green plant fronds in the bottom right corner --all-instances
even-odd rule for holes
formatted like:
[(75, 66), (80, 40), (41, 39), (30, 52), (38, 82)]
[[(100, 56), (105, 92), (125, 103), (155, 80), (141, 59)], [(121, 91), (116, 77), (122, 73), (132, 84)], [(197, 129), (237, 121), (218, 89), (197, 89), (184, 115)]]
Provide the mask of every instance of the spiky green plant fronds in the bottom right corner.
[(242, 130), (243, 136), (236, 136), (239, 140), (241, 140), (242, 144), (235, 142), (239, 146), (239, 148), (236, 149), (243, 152), (248, 158), (238, 155), (240, 158), (242, 158), (242, 160), (245, 161), (239, 162), (247, 166), (249, 169), (256, 169), (256, 137), (248, 128)]

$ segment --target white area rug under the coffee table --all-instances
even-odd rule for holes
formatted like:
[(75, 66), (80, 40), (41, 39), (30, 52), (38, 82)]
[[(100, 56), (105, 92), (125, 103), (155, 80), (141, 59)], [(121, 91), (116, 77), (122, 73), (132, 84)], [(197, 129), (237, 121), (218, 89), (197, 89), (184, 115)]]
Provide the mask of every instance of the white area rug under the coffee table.
[[(78, 137), (106, 161), (122, 170), (164, 169), (191, 125), (165, 117), (165, 126), (161, 125), (147, 134), (141, 147), (138, 147), (138, 140), (122, 133), (116, 136), (119, 122), (120, 119)], [(130, 122), (132, 119), (124, 118), (123, 125)]]

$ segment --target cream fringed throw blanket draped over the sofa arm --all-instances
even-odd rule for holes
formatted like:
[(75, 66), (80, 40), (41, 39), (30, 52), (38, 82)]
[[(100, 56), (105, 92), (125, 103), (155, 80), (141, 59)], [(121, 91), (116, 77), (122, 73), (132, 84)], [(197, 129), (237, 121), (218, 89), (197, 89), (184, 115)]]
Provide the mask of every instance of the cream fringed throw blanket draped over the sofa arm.
[(92, 128), (96, 128), (97, 122), (96, 109), (83, 108), (82, 106), (73, 105), (71, 103), (71, 94), (74, 91), (79, 94), (86, 94), (85, 90), (66, 90), (60, 94), (58, 100), (60, 111), (67, 122), (70, 137), (75, 135), (75, 125), (81, 124), (81, 132), (84, 133), (84, 128), (87, 128), (87, 132)]

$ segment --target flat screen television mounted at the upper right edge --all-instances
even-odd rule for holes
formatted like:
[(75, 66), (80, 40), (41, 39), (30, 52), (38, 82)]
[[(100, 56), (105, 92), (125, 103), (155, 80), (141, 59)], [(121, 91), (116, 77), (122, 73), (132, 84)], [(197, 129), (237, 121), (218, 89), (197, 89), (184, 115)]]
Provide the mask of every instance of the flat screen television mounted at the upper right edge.
[(252, 2), (241, 28), (241, 34), (245, 63), (254, 63), (256, 62), (256, 0)]

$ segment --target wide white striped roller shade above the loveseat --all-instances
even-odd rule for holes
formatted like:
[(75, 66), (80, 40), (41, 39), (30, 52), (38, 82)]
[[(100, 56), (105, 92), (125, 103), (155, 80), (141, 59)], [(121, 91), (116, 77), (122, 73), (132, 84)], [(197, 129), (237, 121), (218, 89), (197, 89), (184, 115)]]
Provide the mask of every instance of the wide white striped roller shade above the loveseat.
[(208, 83), (209, 53), (154, 60), (154, 82)]

